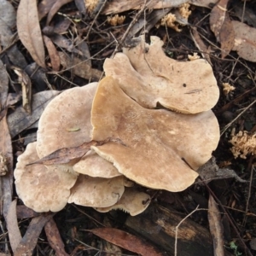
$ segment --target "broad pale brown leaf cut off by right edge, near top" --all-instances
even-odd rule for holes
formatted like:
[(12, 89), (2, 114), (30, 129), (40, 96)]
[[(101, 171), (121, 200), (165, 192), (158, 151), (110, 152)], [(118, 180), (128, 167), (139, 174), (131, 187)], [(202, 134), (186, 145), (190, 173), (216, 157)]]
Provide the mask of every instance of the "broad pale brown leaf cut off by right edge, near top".
[(256, 28), (236, 20), (232, 20), (232, 24), (235, 31), (233, 50), (236, 50), (241, 58), (256, 62)]

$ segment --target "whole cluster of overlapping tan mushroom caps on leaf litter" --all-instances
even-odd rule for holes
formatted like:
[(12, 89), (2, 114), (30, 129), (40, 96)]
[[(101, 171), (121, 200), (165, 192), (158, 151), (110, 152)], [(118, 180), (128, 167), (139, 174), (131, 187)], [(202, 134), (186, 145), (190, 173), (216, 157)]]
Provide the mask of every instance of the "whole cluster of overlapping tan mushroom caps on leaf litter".
[[(157, 37), (139, 42), (105, 61), (106, 77), (98, 84), (66, 90), (45, 108), (38, 141), (27, 145), (15, 169), (16, 191), (27, 207), (57, 212), (75, 203), (136, 215), (150, 201), (136, 183), (182, 191), (211, 158), (219, 129), (210, 110), (218, 101), (210, 65), (168, 58)], [(28, 165), (60, 148), (109, 137), (122, 143), (91, 146), (67, 163)]]

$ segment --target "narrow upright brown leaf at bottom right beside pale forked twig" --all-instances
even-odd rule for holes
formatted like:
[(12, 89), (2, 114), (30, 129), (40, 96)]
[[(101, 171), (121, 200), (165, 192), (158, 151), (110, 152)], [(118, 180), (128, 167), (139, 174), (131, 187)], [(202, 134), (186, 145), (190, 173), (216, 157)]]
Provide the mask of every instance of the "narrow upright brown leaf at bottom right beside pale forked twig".
[(212, 235), (214, 256), (224, 256), (223, 225), (221, 223), (220, 213), (218, 212), (218, 205), (212, 195), (209, 196), (208, 208), (208, 221)]

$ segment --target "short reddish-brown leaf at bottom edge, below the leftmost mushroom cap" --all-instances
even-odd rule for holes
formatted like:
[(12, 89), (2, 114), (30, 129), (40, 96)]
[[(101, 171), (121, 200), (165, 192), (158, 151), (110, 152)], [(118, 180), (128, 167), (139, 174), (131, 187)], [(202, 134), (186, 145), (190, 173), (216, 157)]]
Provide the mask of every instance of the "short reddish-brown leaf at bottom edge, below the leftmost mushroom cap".
[(65, 252), (64, 243), (61, 239), (60, 232), (55, 224), (53, 218), (50, 218), (49, 221), (44, 226), (44, 231), (49, 241), (50, 247), (55, 250), (56, 256), (68, 256)]

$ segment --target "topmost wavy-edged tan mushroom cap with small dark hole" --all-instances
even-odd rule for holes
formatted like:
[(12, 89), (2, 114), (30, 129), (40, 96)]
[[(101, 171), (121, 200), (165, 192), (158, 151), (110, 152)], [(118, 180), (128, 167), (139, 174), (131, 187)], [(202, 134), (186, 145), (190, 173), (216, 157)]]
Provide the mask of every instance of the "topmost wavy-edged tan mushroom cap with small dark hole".
[(218, 102), (219, 90), (210, 64), (203, 59), (173, 60), (165, 55), (162, 45), (160, 38), (151, 37), (149, 45), (141, 37), (136, 47), (124, 48), (124, 53), (107, 59), (104, 71), (145, 108), (155, 108), (160, 102), (180, 113), (211, 109)]

